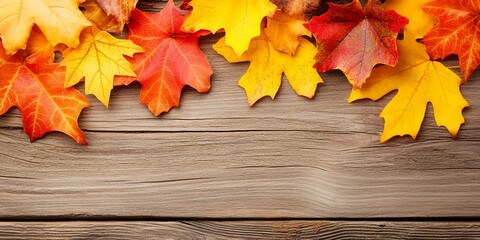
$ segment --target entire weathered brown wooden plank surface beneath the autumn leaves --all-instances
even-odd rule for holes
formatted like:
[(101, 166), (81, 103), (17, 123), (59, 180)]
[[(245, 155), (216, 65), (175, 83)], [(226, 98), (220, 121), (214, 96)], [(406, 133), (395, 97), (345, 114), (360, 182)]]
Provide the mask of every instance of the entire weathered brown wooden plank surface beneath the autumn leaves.
[(89, 146), (60, 133), (30, 143), (18, 110), (1, 116), (0, 238), (480, 238), (478, 72), (458, 139), (429, 106), (417, 141), (380, 144), (393, 94), (348, 104), (331, 72), (313, 100), (284, 79), (249, 108), (237, 86), (248, 63), (216, 55), (219, 37), (201, 39), (210, 93), (187, 88), (168, 114), (140, 105), (138, 84), (108, 110), (89, 97)]

